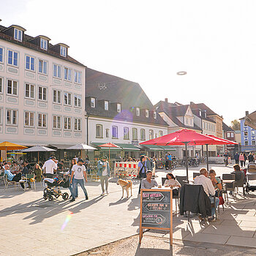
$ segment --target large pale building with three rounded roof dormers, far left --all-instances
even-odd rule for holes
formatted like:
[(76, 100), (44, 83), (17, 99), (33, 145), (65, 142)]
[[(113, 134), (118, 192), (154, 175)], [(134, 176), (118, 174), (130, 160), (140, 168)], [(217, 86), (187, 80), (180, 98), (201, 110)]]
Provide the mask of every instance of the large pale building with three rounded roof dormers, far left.
[(86, 138), (85, 69), (64, 43), (0, 26), (0, 141), (25, 146)]

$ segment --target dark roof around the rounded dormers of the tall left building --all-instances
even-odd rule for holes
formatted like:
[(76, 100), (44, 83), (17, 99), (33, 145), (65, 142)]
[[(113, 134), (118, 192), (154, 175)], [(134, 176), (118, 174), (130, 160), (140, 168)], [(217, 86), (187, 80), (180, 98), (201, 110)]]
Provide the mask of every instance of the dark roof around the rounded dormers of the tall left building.
[[(10, 26), (10, 27), (12, 27), (12, 26)], [(15, 43), (16, 45), (20, 45), (20, 46), (29, 48), (31, 50), (37, 50), (40, 53), (45, 53), (45, 54), (48, 54), (50, 56), (62, 59), (64, 61), (72, 62), (73, 64), (78, 64), (80, 66), (86, 67), (83, 64), (81, 64), (79, 61), (73, 59), (70, 56), (64, 57), (64, 56), (61, 56), (59, 53), (56, 53), (55, 51), (50, 50), (50, 48), (53, 47), (53, 45), (50, 44), (50, 43), (49, 43), (49, 47), (48, 47), (49, 49), (48, 50), (42, 50), (41, 48), (39, 48), (39, 45), (34, 45), (33, 43), (29, 42), (31, 39), (34, 39), (35, 37), (31, 37), (28, 34), (24, 34), (22, 42), (20, 42), (18, 40), (15, 40), (13, 37), (10, 37), (8, 34), (4, 34), (3, 31), (7, 30), (7, 29), (10, 29), (10, 27), (7, 28), (5, 26), (0, 25), (0, 39), (3, 39), (3, 40), (8, 41), (8, 42)]]

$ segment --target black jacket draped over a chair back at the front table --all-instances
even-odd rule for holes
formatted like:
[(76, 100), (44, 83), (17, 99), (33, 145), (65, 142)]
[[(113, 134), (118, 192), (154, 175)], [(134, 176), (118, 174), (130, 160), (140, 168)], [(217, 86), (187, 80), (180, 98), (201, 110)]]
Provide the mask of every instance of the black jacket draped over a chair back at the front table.
[(185, 184), (181, 188), (180, 214), (184, 211), (202, 214), (203, 218), (211, 216), (211, 200), (202, 185)]

